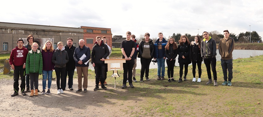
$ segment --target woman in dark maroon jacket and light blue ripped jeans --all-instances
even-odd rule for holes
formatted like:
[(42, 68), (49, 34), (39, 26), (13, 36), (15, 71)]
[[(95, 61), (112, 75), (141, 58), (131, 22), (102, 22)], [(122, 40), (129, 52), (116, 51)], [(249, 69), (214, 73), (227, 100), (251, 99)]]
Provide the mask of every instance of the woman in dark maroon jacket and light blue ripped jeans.
[(51, 78), (52, 78), (52, 72), (54, 70), (54, 63), (52, 63), (52, 56), (54, 53), (54, 48), (52, 46), (51, 41), (47, 41), (45, 45), (42, 48), (42, 57), (43, 57), (43, 70), (42, 70), (42, 75), (43, 75), (43, 80), (42, 80), (42, 85), (43, 85), (43, 91), (41, 94), (45, 94), (46, 90), (46, 80), (48, 79), (48, 89), (47, 89), (47, 94), (50, 94), (50, 86), (51, 86)]

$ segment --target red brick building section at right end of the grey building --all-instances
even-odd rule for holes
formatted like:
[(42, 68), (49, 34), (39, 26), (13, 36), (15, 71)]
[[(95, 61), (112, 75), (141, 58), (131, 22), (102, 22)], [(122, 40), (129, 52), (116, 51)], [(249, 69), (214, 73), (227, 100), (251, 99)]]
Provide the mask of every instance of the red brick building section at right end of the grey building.
[(85, 46), (88, 46), (90, 50), (92, 49), (94, 43), (96, 42), (95, 38), (97, 36), (103, 37), (105, 36), (107, 39), (107, 45), (112, 48), (112, 33), (111, 28), (98, 28), (98, 27), (87, 27), (81, 26), (80, 28), (84, 29), (84, 43)]

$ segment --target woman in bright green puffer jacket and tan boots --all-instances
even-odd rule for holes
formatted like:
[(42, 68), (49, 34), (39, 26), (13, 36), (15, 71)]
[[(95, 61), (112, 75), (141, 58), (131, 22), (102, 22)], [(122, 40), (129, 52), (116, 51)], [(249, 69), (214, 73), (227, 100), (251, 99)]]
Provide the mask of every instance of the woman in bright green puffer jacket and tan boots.
[(35, 96), (38, 95), (38, 76), (42, 74), (42, 54), (40, 50), (37, 50), (38, 44), (34, 42), (31, 46), (32, 50), (28, 51), (26, 61), (26, 74), (29, 74), (30, 79), (30, 96), (34, 96), (34, 85), (35, 85)]

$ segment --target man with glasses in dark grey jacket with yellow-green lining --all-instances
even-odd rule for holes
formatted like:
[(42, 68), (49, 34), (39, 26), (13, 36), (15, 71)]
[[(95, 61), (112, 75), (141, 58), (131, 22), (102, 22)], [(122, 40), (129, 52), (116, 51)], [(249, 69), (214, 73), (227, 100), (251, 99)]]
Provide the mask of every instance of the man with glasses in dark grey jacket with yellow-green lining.
[[(216, 41), (209, 37), (208, 32), (203, 32), (204, 39), (201, 41), (201, 56), (204, 59), (208, 82), (206, 85), (212, 84), (212, 76), (210, 69), (212, 68), (214, 86), (217, 86), (217, 73), (216, 73)], [(211, 67), (210, 67), (211, 64)]]

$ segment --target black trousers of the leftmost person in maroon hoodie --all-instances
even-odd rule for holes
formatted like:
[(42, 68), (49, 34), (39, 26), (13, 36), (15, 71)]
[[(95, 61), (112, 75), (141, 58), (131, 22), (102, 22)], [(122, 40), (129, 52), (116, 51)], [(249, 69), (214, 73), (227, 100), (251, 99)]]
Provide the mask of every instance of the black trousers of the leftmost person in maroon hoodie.
[(19, 75), (21, 77), (21, 84), (20, 84), (20, 88), (21, 88), (21, 92), (25, 90), (25, 69), (23, 68), (23, 65), (21, 66), (15, 66), (15, 70), (14, 70), (14, 91), (16, 91), (16, 93), (18, 93), (19, 91)]

